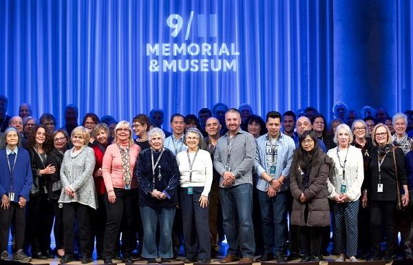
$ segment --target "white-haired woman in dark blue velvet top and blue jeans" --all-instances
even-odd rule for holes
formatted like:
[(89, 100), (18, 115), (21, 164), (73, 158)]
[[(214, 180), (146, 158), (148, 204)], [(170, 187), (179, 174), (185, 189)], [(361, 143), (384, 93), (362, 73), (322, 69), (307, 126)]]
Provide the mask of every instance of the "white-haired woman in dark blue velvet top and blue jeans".
[[(175, 155), (163, 147), (165, 133), (162, 129), (151, 129), (148, 139), (151, 148), (140, 153), (136, 171), (143, 224), (142, 257), (147, 259), (148, 264), (157, 263), (156, 257), (166, 263), (171, 262), (173, 257), (172, 224), (178, 204), (176, 187), (179, 170)], [(156, 244), (158, 224), (160, 238), (159, 244)]]

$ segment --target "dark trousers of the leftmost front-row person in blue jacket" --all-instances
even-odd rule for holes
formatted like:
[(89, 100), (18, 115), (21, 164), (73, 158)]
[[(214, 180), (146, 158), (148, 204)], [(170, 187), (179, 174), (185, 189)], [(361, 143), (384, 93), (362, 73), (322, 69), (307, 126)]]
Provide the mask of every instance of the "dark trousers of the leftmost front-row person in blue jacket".
[(0, 253), (8, 251), (9, 231), (14, 219), (16, 229), (15, 248), (23, 248), (26, 207), (20, 208), (17, 202), (10, 202), (9, 209), (0, 208)]

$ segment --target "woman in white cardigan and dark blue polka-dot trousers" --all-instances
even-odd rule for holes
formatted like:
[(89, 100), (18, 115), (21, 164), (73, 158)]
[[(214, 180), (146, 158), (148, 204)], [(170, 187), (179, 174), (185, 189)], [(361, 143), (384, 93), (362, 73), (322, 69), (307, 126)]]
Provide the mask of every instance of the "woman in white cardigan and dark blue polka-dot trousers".
[(334, 244), (340, 254), (337, 262), (357, 262), (357, 213), (361, 184), (364, 180), (363, 155), (360, 149), (350, 145), (353, 140), (350, 127), (346, 124), (337, 126), (334, 141), (337, 147), (328, 150), (327, 154), (333, 161), (330, 169), (328, 191), (330, 199), (335, 200), (333, 206)]

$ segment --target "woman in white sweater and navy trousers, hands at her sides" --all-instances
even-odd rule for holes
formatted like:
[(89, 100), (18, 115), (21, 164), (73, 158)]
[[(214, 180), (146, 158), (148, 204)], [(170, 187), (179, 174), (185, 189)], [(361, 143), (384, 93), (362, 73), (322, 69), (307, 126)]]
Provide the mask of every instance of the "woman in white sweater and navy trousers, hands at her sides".
[(188, 129), (187, 151), (176, 157), (180, 171), (180, 206), (184, 228), (185, 263), (211, 262), (208, 194), (212, 184), (212, 160), (208, 151), (200, 149), (202, 134)]

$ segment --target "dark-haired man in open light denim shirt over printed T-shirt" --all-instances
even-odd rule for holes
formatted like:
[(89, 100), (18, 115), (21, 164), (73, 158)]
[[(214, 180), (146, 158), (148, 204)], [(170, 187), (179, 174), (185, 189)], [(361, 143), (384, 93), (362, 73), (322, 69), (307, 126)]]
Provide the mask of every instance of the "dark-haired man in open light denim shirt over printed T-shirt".
[(284, 263), (286, 260), (282, 251), (286, 240), (284, 227), (287, 221), (286, 203), (290, 184), (288, 175), (295, 143), (292, 138), (280, 133), (279, 112), (268, 112), (266, 128), (268, 134), (257, 138), (254, 163), (255, 171), (260, 176), (257, 189), (264, 235), (264, 255), (261, 260), (266, 262), (275, 257), (278, 263)]

